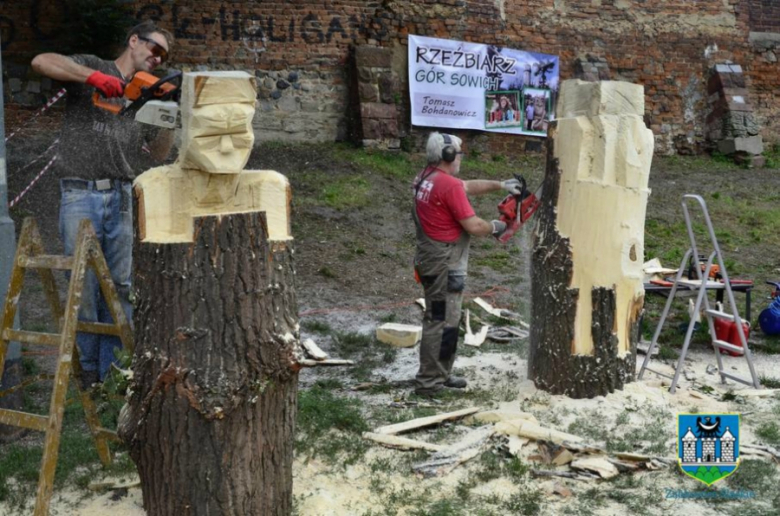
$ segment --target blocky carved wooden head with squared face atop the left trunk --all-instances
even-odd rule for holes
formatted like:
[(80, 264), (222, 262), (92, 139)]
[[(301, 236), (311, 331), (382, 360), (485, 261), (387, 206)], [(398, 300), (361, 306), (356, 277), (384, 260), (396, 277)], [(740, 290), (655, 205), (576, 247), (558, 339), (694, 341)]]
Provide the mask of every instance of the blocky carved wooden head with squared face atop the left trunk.
[(182, 81), (179, 164), (212, 174), (238, 174), (254, 144), (257, 86), (245, 72), (197, 72)]

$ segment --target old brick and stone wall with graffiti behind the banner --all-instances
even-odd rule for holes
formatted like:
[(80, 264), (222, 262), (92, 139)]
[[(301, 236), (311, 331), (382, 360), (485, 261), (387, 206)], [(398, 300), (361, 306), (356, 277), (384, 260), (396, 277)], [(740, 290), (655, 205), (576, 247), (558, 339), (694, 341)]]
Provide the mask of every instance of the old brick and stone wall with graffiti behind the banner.
[[(560, 57), (561, 78), (578, 57), (606, 60), (615, 80), (643, 84), (646, 122), (662, 153), (704, 145), (709, 70), (732, 61), (745, 71), (765, 141), (778, 141), (780, 13), (777, 0), (293, 0), (129, 2), (177, 37), (172, 64), (186, 69), (245, 69), (261, 84), (259, 140), (347, 137), (348, 56), (352, 45), (393, 50), (393, 70), (408, 91), (408, 34), (475, 41)], [(20, 102), (48, 93), (24, 66), (56, 51), (62, 0), (0, 2), (6, 79)], [(294, 80), (291, 80), (294, 79)], [(34, 83), (28, 91), (26, 82)], [(52, 86), (56, 88), (56, 85)], [(37, 90), (41, 90), (38, 93)], [(407, 98), (404, 93), (402, 97)], [(401, 109), (403, 112), (403, 109)], [(401, 120), (400, 136), (416, 142)], [(534, 150), (538, 138), (464, 136), (487, 151)]]

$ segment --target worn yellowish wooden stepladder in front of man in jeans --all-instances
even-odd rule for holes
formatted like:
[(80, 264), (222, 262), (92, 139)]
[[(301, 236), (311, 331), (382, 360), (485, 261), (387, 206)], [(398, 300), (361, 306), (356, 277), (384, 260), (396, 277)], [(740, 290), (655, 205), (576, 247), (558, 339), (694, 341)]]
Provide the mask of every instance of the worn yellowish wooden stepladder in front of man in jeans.
[[(42, 333), (13, 329), (14, 317), (16, 316), (22, 293), (25, 270), (30, 269), (37, 271), (40, 275), (46, 298), (49, 301), (52, 315), (57, 322), (60, 333)], [(64, 308), (57, 293), (53, 270), (70, 271), (70, 284)], [(79, 305), (88, 270), (92, 270), (98, 279), (100, 289), (114, 321), (113, 324), (87, 323), (78, 320)], [(43, 375), (44, 378), (48, 377), (54, 380), (48, 415), (0, 409), (0, 423), (46, 433), (41, 473), (38, 479), (38, 492), (35, 499), (34, 514), (36, 516), (45, 516), (49, 513), (54, 472), (57, 467), (57, 456), (59, 454), (62, 418), (65, 412), (65, 397), (68, 391), (68, 380), (71, 377), (74, 379), (74, 386), (86, 414), (87, 425), (95, 438), (98, 455), (103, 464), (108, 465), (111, 463), (108, 440), (117, 439), (116, 432), (100, 426), (95, 402), (90, 397), (88, 391), (81, 389), (79, 381), (81, 378), (81, 366), (79, 364), (78, 346), (76, 345), (77, 331), (116, 335), (126, 349), (131, 351), (133, 349), (132, 330), (119, 302), (119, 296), (114, 288), (106, 259), (103, 256), (95, 231), (92, 229), (92, 224), (89, 220), (82, 220), (79, 225), (73, 256), (55, 256), (44, 253), (35, 220), (27, 218), (22, 225), (19, 245), (17, 246), (11, 271), (11, 282), (5, 300), (2, 326), (0, 326), (0, 376), (3, 372), (8, 344), (11, 341), (55, 346), (58, 349), (57, 369), (53, 378)], [(0, 392), (0, 397), (24, 388), (26, 385), (39, 379), (41, 377), (32, 378), (11, 389)]]

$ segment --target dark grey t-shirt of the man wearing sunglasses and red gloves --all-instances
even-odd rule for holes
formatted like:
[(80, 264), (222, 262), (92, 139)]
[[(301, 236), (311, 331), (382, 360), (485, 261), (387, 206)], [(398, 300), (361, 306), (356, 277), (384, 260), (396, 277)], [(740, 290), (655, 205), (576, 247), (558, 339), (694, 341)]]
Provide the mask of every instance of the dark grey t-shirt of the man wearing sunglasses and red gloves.
[[(113, 61), (93, 55), (69, 57), (80, 65), (125, 80)], [(158, 164), (148, 149), (144, 150), (144, 144), (154, 139), (156, 128), (95, 107), (92, 94), (97, 90), (92, 86), (70, 82), (65, 89), (68, 95), (57, 159), (59, 177), (132, 180)], [(101, 100), (123, 102), (102, 97)]]

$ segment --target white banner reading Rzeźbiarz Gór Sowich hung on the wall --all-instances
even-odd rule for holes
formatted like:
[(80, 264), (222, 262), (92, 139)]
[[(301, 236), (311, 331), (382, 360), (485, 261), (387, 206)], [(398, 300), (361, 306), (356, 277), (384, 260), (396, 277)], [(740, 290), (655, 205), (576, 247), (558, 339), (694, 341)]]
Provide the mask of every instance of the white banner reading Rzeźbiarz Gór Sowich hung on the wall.
[(546, 136), (558, 57), (409, 36), (412, 124)]

